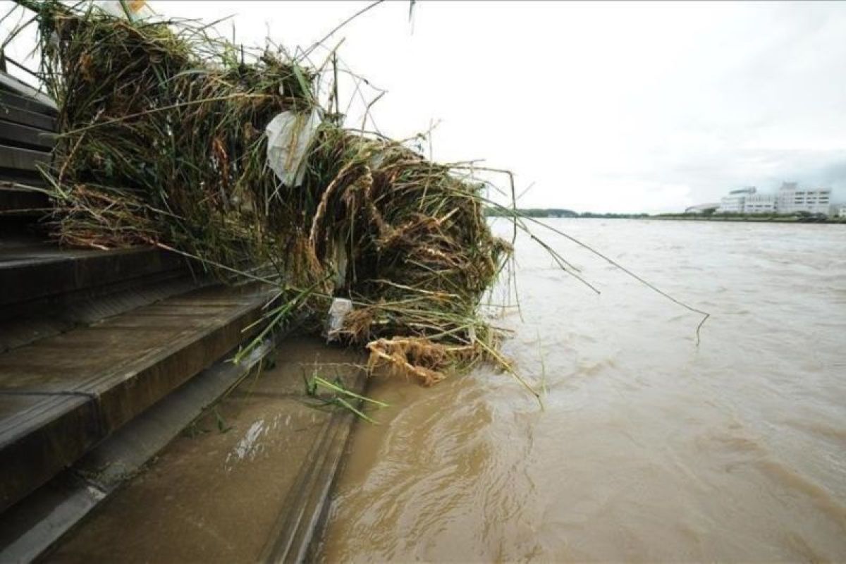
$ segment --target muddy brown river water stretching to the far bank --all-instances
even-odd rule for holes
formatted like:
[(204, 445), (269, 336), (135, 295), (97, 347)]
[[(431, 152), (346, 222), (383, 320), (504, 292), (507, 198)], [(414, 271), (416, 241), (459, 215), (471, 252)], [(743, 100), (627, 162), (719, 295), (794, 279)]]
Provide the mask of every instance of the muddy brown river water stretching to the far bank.
[[(602, 293), (519, 238), (504, 351), (545, 408), (483, 368), (376, 378), (325, 561), (846, 560), (846, 226), (545, 220)], [(508, 225), (495, 224), (498, 233)]]

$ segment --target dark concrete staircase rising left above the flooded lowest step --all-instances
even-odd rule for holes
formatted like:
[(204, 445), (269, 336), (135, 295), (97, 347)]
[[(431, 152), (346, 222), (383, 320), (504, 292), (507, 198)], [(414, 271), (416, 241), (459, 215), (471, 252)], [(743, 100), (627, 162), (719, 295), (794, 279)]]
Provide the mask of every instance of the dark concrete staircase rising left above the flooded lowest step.
[[(51, 242), (37, 189), (56, 112), (30, 90), (0, 73), (3, 561), (38, 556), (117, 487), (120, 473), (93, 484), (84, 458), (101, 476), (103, 464), (139, 467), (271, 349), (226, 361), (255, 335), (266, 286), (224, 287), (160, 249)], [(159, 420), (141, 422), (151, 412)], [(136, 444), (118, 445), (122, 433)]]

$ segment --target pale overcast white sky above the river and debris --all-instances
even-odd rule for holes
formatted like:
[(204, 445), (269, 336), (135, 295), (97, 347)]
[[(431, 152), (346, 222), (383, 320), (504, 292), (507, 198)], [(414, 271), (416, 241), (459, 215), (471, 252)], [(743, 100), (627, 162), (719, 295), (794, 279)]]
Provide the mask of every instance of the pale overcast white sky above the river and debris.
[[(292, 49), (367, 5), (150, 4), (234, 14), (238, 41), (269, 30)], [(534, 183), (523, 206), (676, 211), (783, 180), (846, 201), (846, 3), (424, 0), (409, 24), (409, 2), (387, 2), (340, 39), (343, 61), (387, 90), (382, 133), (439, 123), (436, 159), (513, 170)]]

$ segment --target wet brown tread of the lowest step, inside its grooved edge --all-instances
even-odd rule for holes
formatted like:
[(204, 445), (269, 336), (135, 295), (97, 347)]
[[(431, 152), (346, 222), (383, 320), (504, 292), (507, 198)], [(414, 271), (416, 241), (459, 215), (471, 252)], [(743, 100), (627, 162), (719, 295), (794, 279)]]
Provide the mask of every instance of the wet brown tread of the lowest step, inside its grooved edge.
[(255, 561), (331, 413), (304, 402), (303, 375), (353, 381), (360, 353), (290, 339), (184, 430), (46, 561)]

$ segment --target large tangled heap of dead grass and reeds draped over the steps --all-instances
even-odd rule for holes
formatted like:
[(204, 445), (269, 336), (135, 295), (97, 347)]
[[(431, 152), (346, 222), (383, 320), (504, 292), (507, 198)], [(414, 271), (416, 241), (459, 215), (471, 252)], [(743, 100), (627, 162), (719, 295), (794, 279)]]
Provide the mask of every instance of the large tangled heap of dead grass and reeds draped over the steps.
[[(227, 282), (272, 281), (274, 325), (299, 311), (318, 326), (333, 298), (349, 298), (336, 337), (425, 384), (502, 360), (478, 311), (510, 247), (466, 171), (345, 129), (319, 107), (319, 69), (284, 52), (245, 57), (188, 22), (24, 4), (58, 101), (44, 173), (64, 244), (157, 244)], [(281, 112), (320, 116), (296, 182), (267, 162), (266, 126)]]

